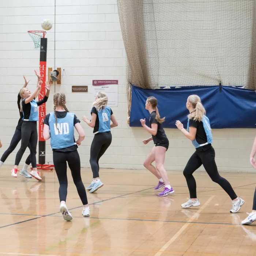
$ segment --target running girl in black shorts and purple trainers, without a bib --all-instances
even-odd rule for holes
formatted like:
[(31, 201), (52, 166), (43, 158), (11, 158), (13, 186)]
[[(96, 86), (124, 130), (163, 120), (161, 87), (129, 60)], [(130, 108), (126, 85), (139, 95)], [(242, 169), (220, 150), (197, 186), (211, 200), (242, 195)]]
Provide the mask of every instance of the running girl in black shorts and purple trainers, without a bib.
[[(146, 118), (140, 119), (140, 123), (145, 128), (145, 130), (152, 135), (152, 137), (143, 140), (143, 143), (147, 144), (148, 142), (150, 142), (150, 140), (153, 140), (155, 146), (148, 154), (143, 165), (159, 180), (157, 187), (155, 187), (155, 190), (159, 190), (162, 187), (165, 187), (164, 190), (158, 194), (158, 196), (167, 196), (168, 194), (174, 193), (174, 190), (170, 186), (167, 172), (163, 167), (163, 163), (165, 161), (165, 153), (169, 147), (169, 140), (165, 135), (165, 131), (163, 130), (162, 125), (165, 117), (160, 118), (157, 108), (157, 99), (155, 97), (148, 97), (145, 106), (150, 113), (150, 127), (146, 125)], [(154, 161), (155, 166), (152, 165)]]

